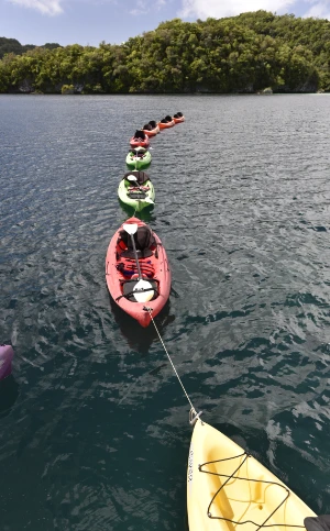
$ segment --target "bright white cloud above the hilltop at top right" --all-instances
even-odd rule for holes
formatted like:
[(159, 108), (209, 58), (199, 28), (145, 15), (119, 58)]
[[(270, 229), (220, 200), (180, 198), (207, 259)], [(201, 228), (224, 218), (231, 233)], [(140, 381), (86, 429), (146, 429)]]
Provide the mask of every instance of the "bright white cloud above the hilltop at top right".
[(183, 0), (178, 16), (221, 19), (260, 9), (280, 14), (292, 12), (293, 7), (299, 8), (299, 11), (306, 8), (304, 16), (328, 18), (330, 13), (330, 0)]

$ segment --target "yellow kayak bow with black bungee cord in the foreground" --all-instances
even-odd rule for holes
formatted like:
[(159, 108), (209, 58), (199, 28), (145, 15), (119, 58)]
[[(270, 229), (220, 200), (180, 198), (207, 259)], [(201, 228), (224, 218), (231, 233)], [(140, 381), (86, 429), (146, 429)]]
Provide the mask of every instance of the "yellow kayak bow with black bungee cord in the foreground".
[(306, 517), (316, 517), (274, 474), (200, 419), (189, 450), (187, 505), (189, 531), (299, 531)]

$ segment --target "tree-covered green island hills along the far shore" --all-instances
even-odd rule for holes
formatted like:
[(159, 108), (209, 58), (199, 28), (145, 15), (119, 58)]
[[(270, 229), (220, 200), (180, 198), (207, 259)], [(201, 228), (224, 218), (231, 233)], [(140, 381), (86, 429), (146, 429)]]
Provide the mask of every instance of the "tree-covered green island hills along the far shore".
[(174, 19), (121, 45), (28, 46), (7, 46), (0, 92), (330, 91), (330, 22), (322, 19), (261, 10), (196, 22)]

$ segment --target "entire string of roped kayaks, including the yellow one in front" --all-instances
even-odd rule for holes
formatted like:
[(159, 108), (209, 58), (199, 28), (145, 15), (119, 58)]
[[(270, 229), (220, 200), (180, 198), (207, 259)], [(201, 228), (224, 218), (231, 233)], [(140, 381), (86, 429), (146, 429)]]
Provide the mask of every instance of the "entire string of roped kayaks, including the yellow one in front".
[[(150, 137), (184, 121), (165, 117), (136, 130), (130, 140), (120, 200), (140, 212), (154, 203), (154, 186), (144, 172), (151, 163)], [(170, 268), (161, 239), (131, 217), (113, 234), (106, 257), (106, 278), (114, 302), (142, 327), (164, 308)], [(316, 513), (283, 482), (220, 431), (195, 419), (187, 466), (190, 531), (330, 531), (330, 517)], [(193, 422), (191, 422), (193, 423)]]

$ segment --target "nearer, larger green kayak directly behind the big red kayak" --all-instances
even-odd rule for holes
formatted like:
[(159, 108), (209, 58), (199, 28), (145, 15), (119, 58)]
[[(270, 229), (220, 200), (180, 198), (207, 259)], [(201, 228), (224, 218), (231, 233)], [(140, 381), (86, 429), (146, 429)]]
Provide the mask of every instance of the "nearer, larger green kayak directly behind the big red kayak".
[(118, 197), (123, 203), (140, 212), (154, 204), (155, 189), (144, 172), (129, 172), (119, 184)]

